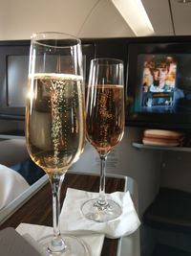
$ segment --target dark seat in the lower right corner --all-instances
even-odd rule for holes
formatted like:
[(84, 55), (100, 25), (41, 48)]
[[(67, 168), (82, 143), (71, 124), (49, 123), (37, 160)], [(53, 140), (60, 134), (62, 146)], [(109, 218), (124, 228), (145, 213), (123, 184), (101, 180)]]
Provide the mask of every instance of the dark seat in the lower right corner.
[(157, 237), (151, 256), (191, 255), (191, 193), (160, 187), (143, 223)]

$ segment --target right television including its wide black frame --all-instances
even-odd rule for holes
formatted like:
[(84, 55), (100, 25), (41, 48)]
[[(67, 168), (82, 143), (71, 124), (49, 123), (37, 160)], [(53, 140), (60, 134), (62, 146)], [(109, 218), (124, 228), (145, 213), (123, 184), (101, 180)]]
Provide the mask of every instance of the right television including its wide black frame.
[(191, 128), (191, 51), (156, 45), (129, 51), (127, 124)]

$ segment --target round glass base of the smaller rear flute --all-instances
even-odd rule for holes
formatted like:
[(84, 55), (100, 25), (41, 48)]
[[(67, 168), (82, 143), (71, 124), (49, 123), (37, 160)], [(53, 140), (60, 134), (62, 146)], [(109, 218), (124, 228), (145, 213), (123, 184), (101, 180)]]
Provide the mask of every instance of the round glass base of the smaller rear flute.
[(122, 213), (116, 201), (107, 199), (107, 204), (99, 204), (97, 198), (84, 202), (81, 211), (87, 219), (98, 222), (113, 221)]

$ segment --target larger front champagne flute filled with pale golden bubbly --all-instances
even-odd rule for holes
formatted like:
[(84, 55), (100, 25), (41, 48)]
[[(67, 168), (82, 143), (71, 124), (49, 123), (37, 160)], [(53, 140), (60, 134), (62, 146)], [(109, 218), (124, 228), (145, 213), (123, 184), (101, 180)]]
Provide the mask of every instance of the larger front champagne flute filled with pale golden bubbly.
[(62, 236), (59, 226), (61, 184), (84, 148), (82, 87), (80, 40), (62, 33), (32, 35), (26, 142), (32, 160), (45, 171), (52, 186), (53, 236), (40, 240), (50, 255), (88, 255), (85, 244), (73, 236)]

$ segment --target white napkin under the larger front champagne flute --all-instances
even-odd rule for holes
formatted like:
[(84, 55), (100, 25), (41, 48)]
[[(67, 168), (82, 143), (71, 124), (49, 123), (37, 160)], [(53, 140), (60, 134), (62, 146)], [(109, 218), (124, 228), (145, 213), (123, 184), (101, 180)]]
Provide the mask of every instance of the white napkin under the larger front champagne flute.
[[(29, 238), (29, 235), (32, 237), (33, 240), (36, 242), (41, 239), (44, 236), (53, 234), (53, 227), (49, 226), (43, 226), (43, 225), (34, 225), (34, 224), (28, 224), (28, 223), (21, 223), (17, 226), (16, 231), (23, 236), (24, 238)], [(68, 233), (68, 232), (67, 232)], [(75, 233), (69, 233), (75, 236)], [(103, 234), (93, 234), (89, 233), (87, 235), (79, 235), (77, 234), (77, 237), (79, 237), (84, 244), (86, 244), (90, 256), (100, 256), (101, 249), (104, 241), (104, 235)], [(31, 239), (28, 239), (28, 242), (32, 241)], [(35, 244), (35, 243), (31, 243)], [(37, 248), (35, 246), (35, 248)], [(40, 252), (40, 250), (38, 250)], [(42, 253), (44, 256), (44, 254)]]

